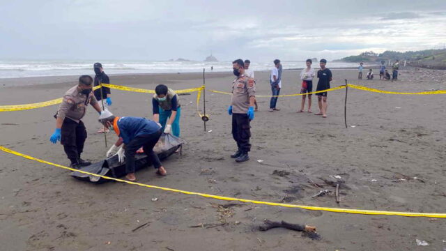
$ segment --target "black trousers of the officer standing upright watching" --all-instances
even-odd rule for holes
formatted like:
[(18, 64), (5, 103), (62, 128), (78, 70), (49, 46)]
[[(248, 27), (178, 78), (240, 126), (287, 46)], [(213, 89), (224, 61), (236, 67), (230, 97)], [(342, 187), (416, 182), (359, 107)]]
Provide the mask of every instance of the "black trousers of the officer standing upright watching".
[(251, 144), (251, 126), (249, 126), (249, 118), (247, 114), (232, 114), (232, 137), (237, 142), (238, 149), (249, 152)]

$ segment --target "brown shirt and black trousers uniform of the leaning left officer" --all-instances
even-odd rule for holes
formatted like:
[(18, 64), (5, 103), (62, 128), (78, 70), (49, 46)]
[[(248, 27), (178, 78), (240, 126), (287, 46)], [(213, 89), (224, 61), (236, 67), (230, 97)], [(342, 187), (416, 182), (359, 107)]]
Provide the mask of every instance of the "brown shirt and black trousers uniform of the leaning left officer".
[(98, 103), (93, 91), (88, 96), (81, 93), (79, 86), (74, 86), (65, 93), (63, 101), (59, 105), (56, 117), (63, 119), (61, 128), (61, 144), (72, 164), (79, 162), (84, 142), (86, 129), (81, 119), (85, 116), (86, 107)]

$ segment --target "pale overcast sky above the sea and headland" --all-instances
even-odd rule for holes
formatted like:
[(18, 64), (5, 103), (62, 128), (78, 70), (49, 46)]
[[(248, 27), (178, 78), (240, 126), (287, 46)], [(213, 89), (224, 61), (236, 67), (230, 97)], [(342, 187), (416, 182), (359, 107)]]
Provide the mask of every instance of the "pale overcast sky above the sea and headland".
[(0, 2), (0, 59), (339, 59), (446, 43), (446, 0)]

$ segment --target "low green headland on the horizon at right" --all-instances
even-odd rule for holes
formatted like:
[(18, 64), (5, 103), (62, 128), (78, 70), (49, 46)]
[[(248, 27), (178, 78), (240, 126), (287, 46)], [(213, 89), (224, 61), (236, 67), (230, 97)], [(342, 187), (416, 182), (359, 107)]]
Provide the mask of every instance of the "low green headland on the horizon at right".
[(385, 51), (383, 53), (362, 52), (357, 56), (347, 56), (337, 59), (337, 62), (350, 63), (379, 63), (380, 61), (407, 61), (409, 66), (446, 70), (446, 49), (443, 50), (421, 50), (408, 52)]

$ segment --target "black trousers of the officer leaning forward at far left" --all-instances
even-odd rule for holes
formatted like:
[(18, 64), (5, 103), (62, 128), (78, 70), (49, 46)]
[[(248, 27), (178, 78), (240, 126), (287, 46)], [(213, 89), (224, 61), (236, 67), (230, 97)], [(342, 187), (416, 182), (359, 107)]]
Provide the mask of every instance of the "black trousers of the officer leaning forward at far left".
[(85, 139), (86, 129), (84, 122), (79, 121), (79, 123), (76, 123), (76, 121), (68, 118), (63, 120), (61, 144), (72, 164), (77, 163), (77, 160), (81, 158), (81, 153), (84, 151)]

